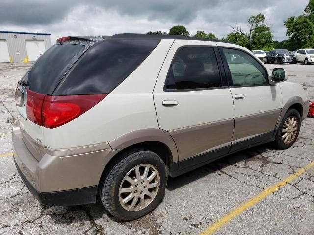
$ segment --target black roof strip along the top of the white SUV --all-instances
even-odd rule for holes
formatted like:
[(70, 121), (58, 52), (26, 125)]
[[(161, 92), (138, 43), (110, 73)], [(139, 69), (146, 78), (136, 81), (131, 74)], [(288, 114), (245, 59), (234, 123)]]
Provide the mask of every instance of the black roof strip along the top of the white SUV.
[[(120, 34), (115, 34), (115, 35), (111, 36), (110, 38), (182, 39), (182, 40), (198, 40), (198, 41), (232, 43), (229, 41), (224, 41), (224, 40), (219, 40), (219, 39), (197, 38), (197, 37), (178, 36), (178, 35), (163, 35), (163, 34), (144, 34), (144, 33), (120, 33)], [(232, 43), (232, 44), (234, 44), (234, 43)]]

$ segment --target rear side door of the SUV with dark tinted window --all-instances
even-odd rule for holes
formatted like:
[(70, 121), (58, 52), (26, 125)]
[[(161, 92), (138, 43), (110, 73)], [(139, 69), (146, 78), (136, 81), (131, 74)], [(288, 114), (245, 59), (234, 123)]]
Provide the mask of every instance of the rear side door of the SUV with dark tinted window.
[(179, 169), (228, 153), (234, 130), (233, 99), (216, 44), (194, 42), (175, 40), (153, 93), (159, 127), (176, 143)]

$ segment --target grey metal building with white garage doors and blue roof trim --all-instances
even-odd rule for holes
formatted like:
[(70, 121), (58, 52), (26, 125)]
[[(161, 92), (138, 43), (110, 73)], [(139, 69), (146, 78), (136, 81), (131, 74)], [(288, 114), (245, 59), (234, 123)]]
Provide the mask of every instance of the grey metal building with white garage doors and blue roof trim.
[(0, 31), (0, 63), (35, 61), (50, 47), (50, 33)]

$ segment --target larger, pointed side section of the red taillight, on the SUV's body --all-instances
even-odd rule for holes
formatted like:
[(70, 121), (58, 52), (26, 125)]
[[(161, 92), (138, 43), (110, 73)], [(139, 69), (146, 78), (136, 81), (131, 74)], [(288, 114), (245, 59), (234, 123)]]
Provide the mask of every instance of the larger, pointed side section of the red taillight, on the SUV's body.
[(84, 94), (67, 96), (46, 95), (42, 107), (43, 126), (55, 128), (91, 109), (107, 94)]

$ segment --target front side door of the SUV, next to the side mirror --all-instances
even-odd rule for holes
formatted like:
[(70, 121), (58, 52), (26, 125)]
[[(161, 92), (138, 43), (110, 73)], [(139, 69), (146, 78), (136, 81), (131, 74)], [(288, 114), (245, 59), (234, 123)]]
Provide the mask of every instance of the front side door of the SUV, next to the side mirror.
[[(281, 114), (280, 86), (271, 86), (266, 68), (241, 48), (217, 43), (235, 107), (232, 149), (236, 151), (270, 139)], [(238, 60), (228, 58), (236, 55)]]

